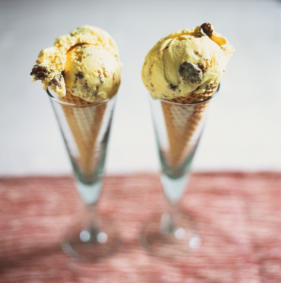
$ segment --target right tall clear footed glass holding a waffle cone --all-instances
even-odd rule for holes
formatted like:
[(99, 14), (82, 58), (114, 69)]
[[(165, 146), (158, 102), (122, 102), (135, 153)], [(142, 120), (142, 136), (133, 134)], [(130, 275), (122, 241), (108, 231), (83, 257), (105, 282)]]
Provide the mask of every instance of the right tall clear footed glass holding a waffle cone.
[(201, 240), (195, 222), (188, 213), (179, 211), (178, 202), (184, 193), (190, 175), (190, 166), (196, 151), (210, 100), (195, 103), (171, 102), (153, 99), (150, 106), (158, 153), (161, 163), (160, 180), (166, 210), (144, 223), (140, 244), (160, 256), (182, 256), (199, 248)]

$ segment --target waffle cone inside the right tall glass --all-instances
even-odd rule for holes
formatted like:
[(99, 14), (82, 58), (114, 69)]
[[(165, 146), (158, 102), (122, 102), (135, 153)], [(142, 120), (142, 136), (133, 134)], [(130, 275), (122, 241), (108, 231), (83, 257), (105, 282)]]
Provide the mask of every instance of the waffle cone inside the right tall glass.
[(216, 89), (217, 85), (201, 94), (194, 93), (188, 97), (168, 100), (183, 104), (183, 106), (161, 101), (169, 138), (168, 160), (171, 167), (179, 166), (186, 157), (186, 153), (191, 146), (191, 138), (208, 106), (208, 102), (195, 104), (193, 107), (186, 107), (184, 104), (204, 101), (211, 97), (216, 92)]

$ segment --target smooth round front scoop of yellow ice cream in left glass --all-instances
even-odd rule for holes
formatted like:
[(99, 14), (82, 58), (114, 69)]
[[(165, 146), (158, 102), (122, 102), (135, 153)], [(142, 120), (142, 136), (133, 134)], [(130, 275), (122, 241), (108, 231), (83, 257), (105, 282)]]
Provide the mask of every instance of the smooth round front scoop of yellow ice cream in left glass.
[(119, 60), (101, 46), (79, 44), (67, 51), (66, 90), (88, 102), (114, 96), (120, 85)]

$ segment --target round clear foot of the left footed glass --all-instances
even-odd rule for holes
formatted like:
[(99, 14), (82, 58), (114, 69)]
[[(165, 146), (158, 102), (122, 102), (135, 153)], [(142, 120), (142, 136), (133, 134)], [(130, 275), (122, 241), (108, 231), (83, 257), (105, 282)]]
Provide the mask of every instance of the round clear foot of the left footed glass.
[(115, 252), (121, 241), (115, 224), (99, 216), (74, 226), (61, 243), (63, 251), (74, 260), (94, 261)]

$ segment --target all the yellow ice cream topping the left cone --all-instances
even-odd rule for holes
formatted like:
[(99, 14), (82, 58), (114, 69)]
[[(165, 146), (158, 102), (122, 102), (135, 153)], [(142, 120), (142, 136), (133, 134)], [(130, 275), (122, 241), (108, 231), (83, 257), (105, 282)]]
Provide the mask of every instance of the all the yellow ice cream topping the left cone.
[(120, 85), (121, 63), (113, 38), (103, 29), (85, 25), (58, 37), (42, 50), (30, 73), (58, 97), (66, 91), (88, 102), (112, 97)]

